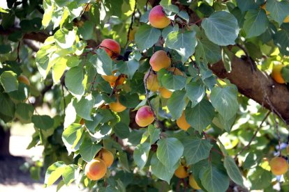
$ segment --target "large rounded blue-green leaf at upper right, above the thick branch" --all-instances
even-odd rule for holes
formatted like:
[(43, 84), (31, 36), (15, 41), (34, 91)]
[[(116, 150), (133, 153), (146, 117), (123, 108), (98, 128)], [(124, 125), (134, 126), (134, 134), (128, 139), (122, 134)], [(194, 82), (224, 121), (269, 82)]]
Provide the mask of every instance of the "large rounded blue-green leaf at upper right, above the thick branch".
[(237, 19), (225, 11), (215, 12), (204, 19), (202, 28), (209, 40), (216, 45), (235, 45), (235, 40), (239, 34)]

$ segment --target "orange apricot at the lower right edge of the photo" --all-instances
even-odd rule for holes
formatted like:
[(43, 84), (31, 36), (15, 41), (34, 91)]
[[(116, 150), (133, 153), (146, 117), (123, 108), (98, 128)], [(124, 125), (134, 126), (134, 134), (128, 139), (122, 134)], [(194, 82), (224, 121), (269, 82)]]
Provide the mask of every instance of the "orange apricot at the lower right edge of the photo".
[(274, 175), (283, 175), (288, 170), (288, 163), (283, 157), (274, 157), (269, 162), (269, 165)]

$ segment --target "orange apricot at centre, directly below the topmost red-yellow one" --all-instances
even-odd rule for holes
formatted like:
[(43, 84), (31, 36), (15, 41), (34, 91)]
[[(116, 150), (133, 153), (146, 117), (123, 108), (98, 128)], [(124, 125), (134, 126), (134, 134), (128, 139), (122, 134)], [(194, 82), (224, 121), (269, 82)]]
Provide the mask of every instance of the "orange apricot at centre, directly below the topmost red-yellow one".
[(156, 51), (149, 59), (149, 64), (151, 65), (151, 68), (156, 72), (163, 68), (166, 69), (170, 67), (170, 63), (170, 58), (163, 50)]

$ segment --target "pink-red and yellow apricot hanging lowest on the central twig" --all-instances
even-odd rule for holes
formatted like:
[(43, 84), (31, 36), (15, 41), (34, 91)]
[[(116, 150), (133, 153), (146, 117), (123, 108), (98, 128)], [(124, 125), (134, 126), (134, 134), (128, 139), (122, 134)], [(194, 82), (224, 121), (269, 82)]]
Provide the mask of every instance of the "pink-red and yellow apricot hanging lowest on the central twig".
[(149, 106), (142, 106), (135, 115), (135, 122), (140, 127), (147, 127), (154, 122), (154, 113)]

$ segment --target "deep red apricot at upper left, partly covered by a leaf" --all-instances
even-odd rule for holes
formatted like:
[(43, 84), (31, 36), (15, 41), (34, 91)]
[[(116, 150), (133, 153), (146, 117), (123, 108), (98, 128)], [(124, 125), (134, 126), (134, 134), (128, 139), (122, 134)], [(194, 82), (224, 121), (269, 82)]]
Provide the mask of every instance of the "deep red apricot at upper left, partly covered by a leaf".
[(110, 58), (114, 59), (119, 56), (121, 47), (119, 43), (112, 39), (105, 39), (101, 42), (101, 45), (99, 45), (101, 49), (105, 49), (105, 51), (108, 53)]

